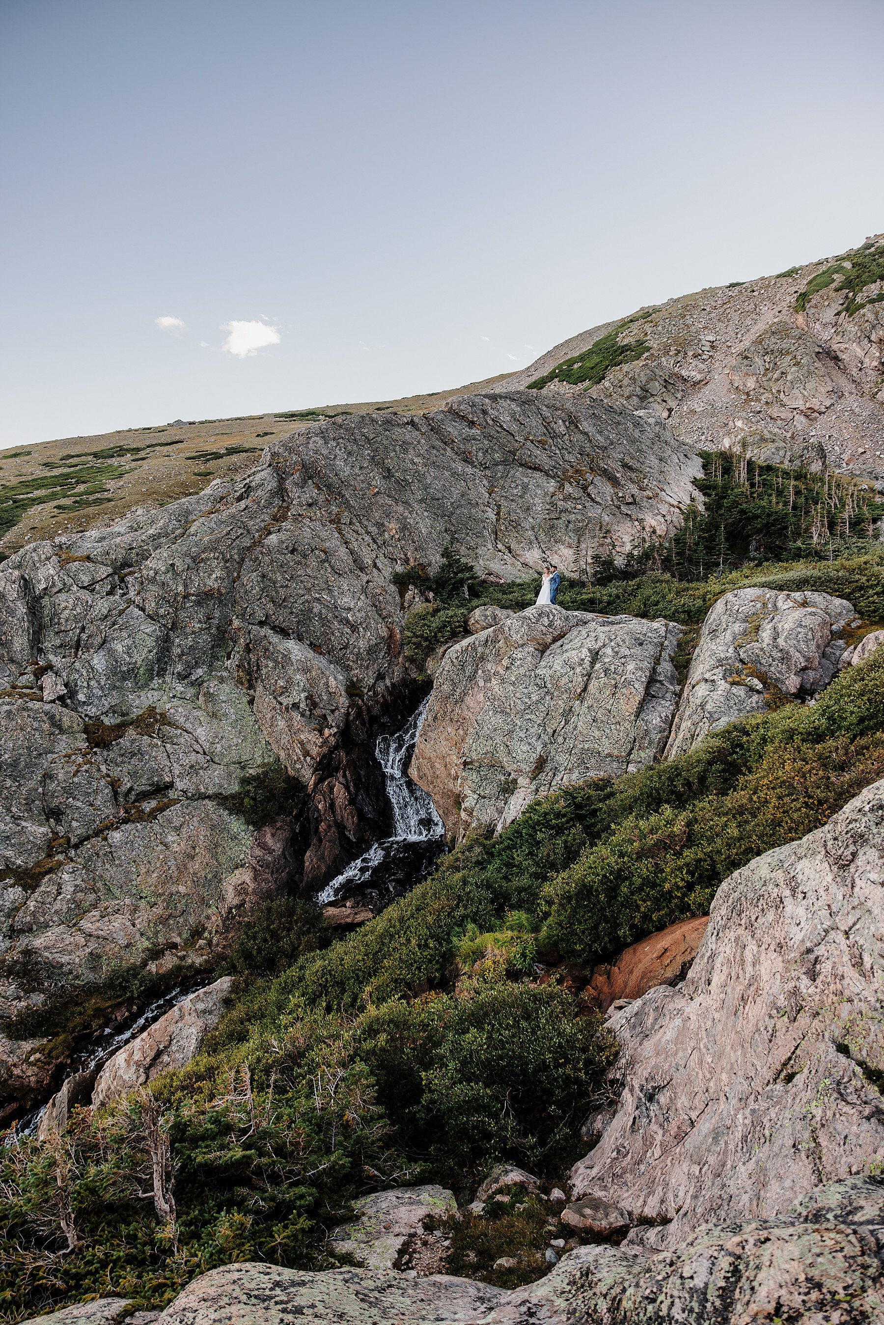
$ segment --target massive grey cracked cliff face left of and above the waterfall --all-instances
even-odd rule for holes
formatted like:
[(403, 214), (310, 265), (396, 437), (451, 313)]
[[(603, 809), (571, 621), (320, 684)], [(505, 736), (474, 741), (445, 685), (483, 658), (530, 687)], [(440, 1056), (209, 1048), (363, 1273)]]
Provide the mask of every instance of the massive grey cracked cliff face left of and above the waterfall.
[(470, 396), (318, 424), (236, 484), (11, 556), (0, 1014), (113, 963), (199, 959), (290, 884), (302, 845), (290, 820), (248, 827), (249, 779), (309, 786), (314, 884), (383, 835), (396, 568), (452, 543), (502, 579), (578, 570), (600, 530), (671, 529), (697, 472), (660, 420)]

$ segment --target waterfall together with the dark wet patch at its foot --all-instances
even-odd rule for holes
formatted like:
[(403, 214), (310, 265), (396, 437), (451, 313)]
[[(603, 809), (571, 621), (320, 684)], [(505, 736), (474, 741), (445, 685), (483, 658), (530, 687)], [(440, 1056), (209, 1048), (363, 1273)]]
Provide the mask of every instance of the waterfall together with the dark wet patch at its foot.
[(326, 884), (317, 897), (321, 906), (355, 896), (364, 897), (372, 908), (392, 901), (439, 855), (445, 827), (427, 792), (406, 771), (428, 702), (428, 698), (424, 700), (399, 731), (391, 737), (378, 737), (375, 745), (392, 810), (392, 836), (372, 843), (359, 860), (354, 860)]

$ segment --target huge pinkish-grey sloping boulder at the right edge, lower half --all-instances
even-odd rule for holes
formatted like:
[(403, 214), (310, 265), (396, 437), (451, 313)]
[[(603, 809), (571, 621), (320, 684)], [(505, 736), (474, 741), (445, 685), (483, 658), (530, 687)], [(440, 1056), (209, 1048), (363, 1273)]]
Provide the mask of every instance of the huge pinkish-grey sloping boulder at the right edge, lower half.
[(577, 1196), (701, 1224), (783, 1215), (884, 1154), (884, 782), (718, 889), (685, 982), (615, 1012), (620, 1102)]

